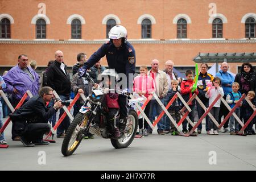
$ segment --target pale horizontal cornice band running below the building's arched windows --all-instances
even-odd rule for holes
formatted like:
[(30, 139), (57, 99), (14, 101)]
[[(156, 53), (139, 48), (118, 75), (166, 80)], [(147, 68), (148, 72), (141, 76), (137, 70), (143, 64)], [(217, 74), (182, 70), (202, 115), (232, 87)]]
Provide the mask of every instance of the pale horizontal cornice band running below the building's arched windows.
[[(256, 39), (232, 40), (128, 40), (132, 44), (245, 44), (256, 43)], [(0, 44), (104, 44), (106, 40), (12, 40), (0, 39)]]

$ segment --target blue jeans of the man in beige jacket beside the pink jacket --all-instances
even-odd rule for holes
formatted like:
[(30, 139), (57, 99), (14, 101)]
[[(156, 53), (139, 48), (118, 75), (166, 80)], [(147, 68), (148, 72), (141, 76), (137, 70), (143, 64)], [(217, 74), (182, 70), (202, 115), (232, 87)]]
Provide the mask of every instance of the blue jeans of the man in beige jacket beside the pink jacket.
[[(160, 100), (163, 103), (163, 100)], [(154, 118), (154, 107), (156, 108), (156, 115), (159, 115), (163, 110), (162, 107), (158, 104), (158, 102), (156, 100), (151, 100), (150, 101), (150, 122), (153, 123), (153, 121), (155, 120)], [(164, 130), (164, 120), (163, 117), (160, 119), (160, 121), (158, 122), (158, 130)]]

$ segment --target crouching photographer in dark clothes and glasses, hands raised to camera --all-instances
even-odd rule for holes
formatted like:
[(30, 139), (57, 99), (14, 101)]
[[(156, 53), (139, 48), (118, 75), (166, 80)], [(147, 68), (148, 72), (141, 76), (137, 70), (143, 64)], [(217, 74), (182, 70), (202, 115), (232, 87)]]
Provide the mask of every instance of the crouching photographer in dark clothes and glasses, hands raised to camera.
[(44, 86), (39, 90), (38, 96), (30, 98), (23, 106), (10, 114), (11, 121), (15, 123), (14, 130), (26, 147), (49, 144), (43, 140), (43, 135), (51, 130), (48, 119), (63, 106), (59, 100), (53, 106), (47, 107), (46, 103), (53, 98), (52, 91), (51, 87)]

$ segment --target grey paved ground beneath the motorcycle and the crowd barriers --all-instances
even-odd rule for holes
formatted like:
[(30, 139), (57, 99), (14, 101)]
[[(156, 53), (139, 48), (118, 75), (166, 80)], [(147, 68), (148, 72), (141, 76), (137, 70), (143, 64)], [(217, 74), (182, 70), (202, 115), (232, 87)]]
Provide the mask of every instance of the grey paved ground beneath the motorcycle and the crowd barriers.
[[(130, 147), (119, 150), (109, 139), (95, 137), (83, 140), (75, 154), (64, 157), (63, 139), (55, 138), (49, 146), (23, 147), (11, 141), (10, 127), (6, 130), (10, 146), (0, 148), (0, 170), (256, 170), (256, 135), (152, 134), (135, 138)], [(40, 165), (42, 151), (46, 164)]]

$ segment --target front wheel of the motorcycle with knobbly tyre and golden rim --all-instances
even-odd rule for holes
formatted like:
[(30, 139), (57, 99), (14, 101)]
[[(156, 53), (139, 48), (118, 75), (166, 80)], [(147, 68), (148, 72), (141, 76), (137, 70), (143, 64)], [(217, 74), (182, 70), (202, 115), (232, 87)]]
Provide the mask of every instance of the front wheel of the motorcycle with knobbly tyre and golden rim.
[(84, 133), (82, 128), (86, 126), (89, 115), (90, 111), (85, 114), (77, 113), (76, 117), (69, 125), (61, 147), (61, 153), (64, 156), (72, 155), (81, 143), (82, 134)]

